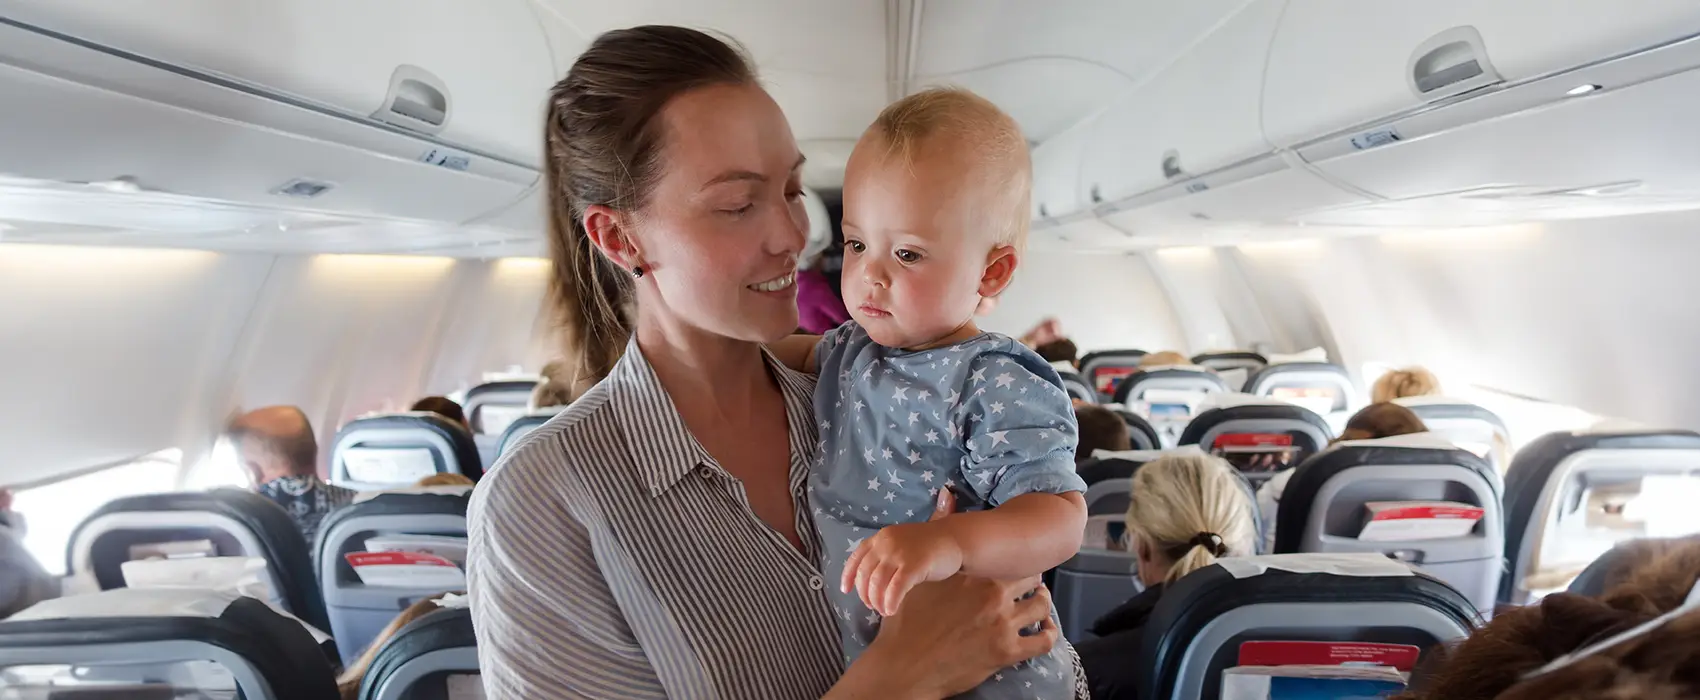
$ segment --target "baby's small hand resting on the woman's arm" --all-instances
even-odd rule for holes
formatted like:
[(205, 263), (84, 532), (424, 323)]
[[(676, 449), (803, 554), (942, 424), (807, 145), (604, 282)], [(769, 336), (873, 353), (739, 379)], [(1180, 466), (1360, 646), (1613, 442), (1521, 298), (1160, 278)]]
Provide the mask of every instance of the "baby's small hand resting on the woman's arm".
[(892, 615), (910, 588), (921, 581), (944, 581), (962, 569), (962, 545), (938, 522), (881, 528), (864, 540), (850, 561), (840, 590), (853, 588), (862, 605)]

